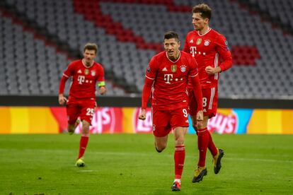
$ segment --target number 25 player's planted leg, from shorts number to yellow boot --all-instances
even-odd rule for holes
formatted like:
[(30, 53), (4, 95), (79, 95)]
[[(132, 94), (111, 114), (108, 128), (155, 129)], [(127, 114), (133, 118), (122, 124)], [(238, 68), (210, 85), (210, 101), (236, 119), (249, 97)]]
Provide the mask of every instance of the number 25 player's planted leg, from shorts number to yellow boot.
[(87, 100), (82, 104), (81, 109), (81, 121), (82, 121), (82, 134), (79, 141), (79, 157), (77, 158), (76, 165), (78, 167), (84, 167), (85, 163), (82, 159), (88, 146), (89, 138), (89, 127), (91, 125), (91, 119), (93, 118), (93, 113), (95, 110), (95, 101)]

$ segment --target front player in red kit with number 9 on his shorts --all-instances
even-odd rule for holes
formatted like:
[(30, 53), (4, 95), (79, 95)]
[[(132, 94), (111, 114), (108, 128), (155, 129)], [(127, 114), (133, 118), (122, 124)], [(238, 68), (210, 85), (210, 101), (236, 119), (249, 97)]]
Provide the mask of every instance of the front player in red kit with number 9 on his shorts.
[[(190, 54), (179, 51), (178, 34), (167, 32), (163, 44), (166, 51), (156, 54), (146, 69), (139, 119), (146, 119), (146, 104), (151, 95), (154, 140), (159, 153), (166, 148), (169, 132), (172, 129), (174, 132), (175, 180), (171, 189), (179, 191), (185, 160), (184, 136), (188, 129), (188, 78), (193, 83), (198, 105), (202, 105), (202, 93), (197, 63)], [(202, 119), (202, 107), (199, 107), (197, 121)]]

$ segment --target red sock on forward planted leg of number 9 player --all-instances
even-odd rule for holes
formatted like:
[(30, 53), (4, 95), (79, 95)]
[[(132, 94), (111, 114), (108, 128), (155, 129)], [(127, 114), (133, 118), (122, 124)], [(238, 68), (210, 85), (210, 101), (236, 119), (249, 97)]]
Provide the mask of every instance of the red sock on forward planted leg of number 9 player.
[(185, 160), (185, 147), (184, 145), (176, 146), (174, 152), (175, 162), (175, 179), (181, 179)]

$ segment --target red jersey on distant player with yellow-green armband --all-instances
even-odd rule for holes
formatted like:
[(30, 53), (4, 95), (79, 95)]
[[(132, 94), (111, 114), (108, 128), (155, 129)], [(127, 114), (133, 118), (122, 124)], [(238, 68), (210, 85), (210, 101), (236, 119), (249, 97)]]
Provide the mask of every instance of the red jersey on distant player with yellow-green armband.
[(63, 76), (72, 77), (69, 96), (73, 98), (96, 98), (96, 82), (105, 82), (103, 66), (96, 61), (90, 67), (82, 60), (72, 61)]

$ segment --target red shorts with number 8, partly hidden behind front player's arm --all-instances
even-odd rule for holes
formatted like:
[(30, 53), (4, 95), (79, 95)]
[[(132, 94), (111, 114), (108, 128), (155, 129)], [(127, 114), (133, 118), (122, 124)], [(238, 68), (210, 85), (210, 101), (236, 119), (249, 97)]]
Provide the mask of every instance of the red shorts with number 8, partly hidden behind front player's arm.
[[(197, 114), (197, 102), (195, 100), (195, 94), (193, 89), (188, 88), (188, 105), (189, 113), (191, 116)], [(217, 88), (205, 88), (202, 89), (202, 108), (204, 116), (212, 118), (217, 114), (218, 107), (218, 89)]]

